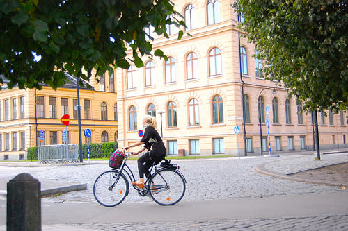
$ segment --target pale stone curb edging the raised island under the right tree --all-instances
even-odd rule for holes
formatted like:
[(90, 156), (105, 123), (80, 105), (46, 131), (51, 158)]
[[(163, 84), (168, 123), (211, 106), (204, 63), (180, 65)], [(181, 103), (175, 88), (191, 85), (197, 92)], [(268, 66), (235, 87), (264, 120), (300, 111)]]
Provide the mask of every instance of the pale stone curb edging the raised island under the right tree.
[[(337, 184), (337, 183), (324, 182), (324, 181), (320, 181), (320, 180), (309, 180), (309, 179), (303, 179), (303, 178), (296, 178), (294, 176), (290, 176), (287, 174), (276, 173), (274, 171), (270, 171), (270, 170), (266, 169), (264, 167), (264, 165), (266, 165), (266, 164), (269, 164), (269, 162), (255, 166), (255, 171), (257, 171), (258, 173), (261, 173), (261, 174), (265, 174), (267, 176), (273, 176), (275, 178), (280, 178), (280, 179), (284, 179), (284, 180), (294, 180), (294, 181), (306, 182), (306, 183), (310, 183), (310, 184), (329, 185), (329, 186), (338, 186), (338, 187), (343, 187), (343, 186), (347, 187), (348, 186), (348, 185), (342, 185), (342, 184)], [(332, 165), (335, 165), (335, 164), (332, 164)], [(320, 168), (322, 168), (322, 167), (315, 168), (315, 169), (320, 169)], [(313, 169), (307, 169), (307, 170), (313, 170)], [(307, 170), (305, 170), (305, 171), (307, 171)]]

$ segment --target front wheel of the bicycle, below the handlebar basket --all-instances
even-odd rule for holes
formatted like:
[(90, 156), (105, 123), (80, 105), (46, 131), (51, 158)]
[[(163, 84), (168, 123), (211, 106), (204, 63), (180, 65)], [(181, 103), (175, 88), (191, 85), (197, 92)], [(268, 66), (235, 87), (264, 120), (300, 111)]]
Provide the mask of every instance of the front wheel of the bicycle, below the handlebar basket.
[(100, 174), (93, 185), (95, 200), (106, 207), (119, 205), (125, 200), (128, 191), (128, 180), (118, 170), (110, 170)]

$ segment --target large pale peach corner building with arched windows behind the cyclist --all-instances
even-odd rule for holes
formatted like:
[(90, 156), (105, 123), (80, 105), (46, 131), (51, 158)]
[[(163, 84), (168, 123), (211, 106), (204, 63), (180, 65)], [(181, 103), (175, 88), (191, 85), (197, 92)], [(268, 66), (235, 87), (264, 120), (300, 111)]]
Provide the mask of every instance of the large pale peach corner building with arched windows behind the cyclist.
[[(238, 148), (241, 155), (268, 154), (269, 142), (271, 153), (313, 150), (310, 114), (298, 114), (296, 99), (264, 80), (255, 45), (244, 37), (239, 42), (232, 2), (173, 2), (192, 37), (177, 40), (177, 30), (168, 27), (167, 40), (146, 28), (155, 37), (153, 49), (164, 51), (168, 61), (143, 58), (143, 68), (116, 70), (119, 146), (139, 140), (143, 115), (153, 114), (168, 155), (237, 155)], [(346, 114), (329, 113), (322, 121), (318, 116), (321, 148), (347, 147)]]

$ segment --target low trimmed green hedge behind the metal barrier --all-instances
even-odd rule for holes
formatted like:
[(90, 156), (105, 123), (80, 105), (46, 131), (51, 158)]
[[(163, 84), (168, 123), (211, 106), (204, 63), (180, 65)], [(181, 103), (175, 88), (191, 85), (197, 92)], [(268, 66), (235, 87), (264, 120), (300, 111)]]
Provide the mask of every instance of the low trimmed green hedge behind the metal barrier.
[[(102, 144), (92, 143), (89, 144), (89, 157), (90, 158), (109, 158), (109, 153), (115, 151), (118, 148), (117, 142), (105, 142)], [(27, 160), (38, 160), (38, 148), (28, 148)], [(88, 158), (87, 144), (82, 145), (82, 156), (86, 159)]]

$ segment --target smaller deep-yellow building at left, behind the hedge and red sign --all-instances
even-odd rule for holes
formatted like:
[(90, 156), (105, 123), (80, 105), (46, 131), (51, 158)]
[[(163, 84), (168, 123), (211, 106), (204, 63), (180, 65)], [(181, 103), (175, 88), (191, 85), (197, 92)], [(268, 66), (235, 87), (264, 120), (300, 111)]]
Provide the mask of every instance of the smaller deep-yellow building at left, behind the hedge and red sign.
[[(116, 141), (117, 104), (114, 74), (106, 74), (100, 83), (91, 81), (94, 89), (80, 87), (81, 130), (92, 131), (90, 143)], [(43, 86), (36, 89), (7, 89), (0, 91), (0, 160), (30, 160), (27, 148), (65, 144), (61, 122), (69, 114), (66, 142), (79, 144), (76, 79), (56, 91)], [(40, 135), (42, 133), (43, 135)], [(87, 139), (82, 135), (82, 143)]]

